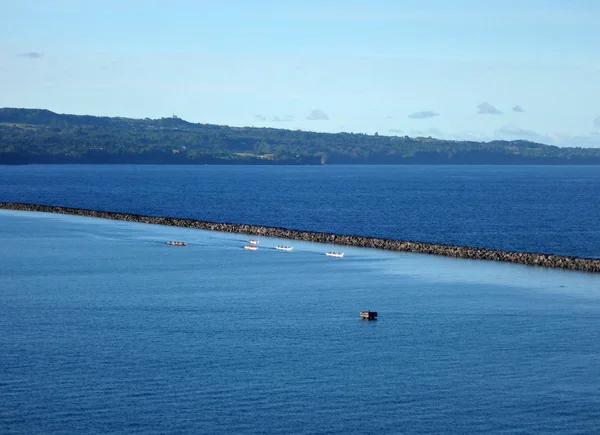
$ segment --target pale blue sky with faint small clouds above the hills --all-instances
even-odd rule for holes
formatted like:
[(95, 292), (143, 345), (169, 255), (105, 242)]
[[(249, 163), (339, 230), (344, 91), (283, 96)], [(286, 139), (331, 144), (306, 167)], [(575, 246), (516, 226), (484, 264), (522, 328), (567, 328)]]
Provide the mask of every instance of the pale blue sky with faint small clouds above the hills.
[(600, 147), (598, 0), (0, 0), (0, 107)]

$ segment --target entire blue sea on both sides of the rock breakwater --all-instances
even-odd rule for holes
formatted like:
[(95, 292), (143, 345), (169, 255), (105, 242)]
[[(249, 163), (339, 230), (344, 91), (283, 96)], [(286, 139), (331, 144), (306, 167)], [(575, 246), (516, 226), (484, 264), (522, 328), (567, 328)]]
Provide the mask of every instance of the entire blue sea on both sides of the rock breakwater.
[[(597, 171), (11, 167), (0, 200), (600, 256)], [(0, 240), (0, 433), (600, 430), (600, 275), (6, 210)]]

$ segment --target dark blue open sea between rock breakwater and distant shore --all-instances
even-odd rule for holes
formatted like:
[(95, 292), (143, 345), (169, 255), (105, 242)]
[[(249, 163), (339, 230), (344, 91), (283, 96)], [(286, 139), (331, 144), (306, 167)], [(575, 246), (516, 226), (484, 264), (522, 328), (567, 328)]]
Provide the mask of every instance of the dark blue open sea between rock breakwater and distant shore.
[(0, 166), (0, 201), (600, 257), (598, 166)]

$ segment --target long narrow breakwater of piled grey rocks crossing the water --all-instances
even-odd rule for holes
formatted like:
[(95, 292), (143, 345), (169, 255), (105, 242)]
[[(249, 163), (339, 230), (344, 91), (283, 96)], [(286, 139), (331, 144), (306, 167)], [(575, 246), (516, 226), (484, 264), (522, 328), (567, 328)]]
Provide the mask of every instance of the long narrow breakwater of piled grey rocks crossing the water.
[(318, 233), (313, 231), (296, 231), (286, 228), (263, 227), (259, 225), (230, 224), (207, 222), (195, 219), (179, 219), (172, 217), (153, 217), (129, 213), (86, 210), (49, 205), (21, 204), (0, 202), (0, 209), (38, 211), (46, 213), (62, 213), (104, 219), (140, 222), (155, 225), (171, 225), (177, 227), (199, 228), (211, 231), (241, 233), (264, 237), (278, 237), (292, 240), (305, 240), (317, 243), (334, 243), (336, 245), (359, 246), (364, 248), (386, 249), (390, 251), (413, 252), (420, 254), (443, 255), (446, 257), (468, 258), (472, 260), (493, 260), (519, 263), (530, 266), (553, 267), (600, 272), (600, 259), (571, 257), (529, 252), (501, 251), (495, 249), (473, 248), (469, 246), (442, 245), (437, 243), (410, 242), (404, 240), (379, 239), (374, 237), (348, 236), (340, 234)]

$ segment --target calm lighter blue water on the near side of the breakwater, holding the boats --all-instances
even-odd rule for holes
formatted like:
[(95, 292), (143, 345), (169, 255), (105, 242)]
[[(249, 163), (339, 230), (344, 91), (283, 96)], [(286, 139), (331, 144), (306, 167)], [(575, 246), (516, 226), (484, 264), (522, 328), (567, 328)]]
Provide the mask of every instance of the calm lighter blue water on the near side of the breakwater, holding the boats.
[(9, 211), (0, 240), (0, 433), (600, 430), (599, 275)]

